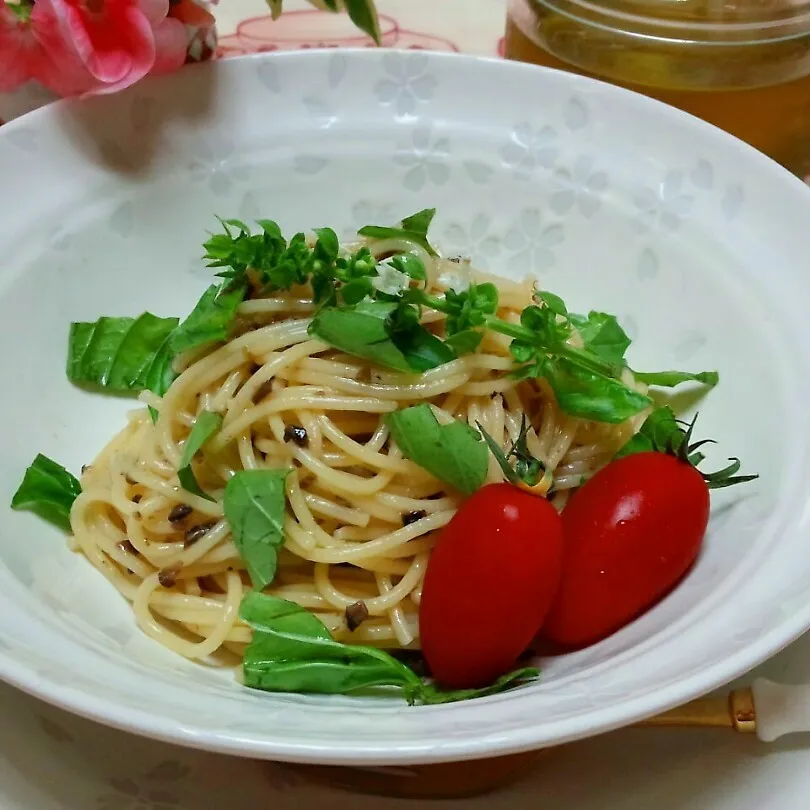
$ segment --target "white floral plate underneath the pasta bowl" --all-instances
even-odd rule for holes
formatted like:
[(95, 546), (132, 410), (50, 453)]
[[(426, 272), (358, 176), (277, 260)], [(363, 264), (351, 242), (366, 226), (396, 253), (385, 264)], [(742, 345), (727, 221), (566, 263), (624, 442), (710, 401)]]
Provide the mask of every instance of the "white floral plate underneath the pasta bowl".
[[(758, 674), (806, 682), (810, 636)], [(727, 729), (624, 729), (540, 757), (528, 779), (496, 796), (416, 803), (327, 790), (306, 768), (101, 728), (3, 684), (0, 716), (3, 810), (807, 810), (810, 788), (801, 738), (765, 750), (753, 735)], [(408, 767), (382, 770), (391, 791), (418, 780)]]

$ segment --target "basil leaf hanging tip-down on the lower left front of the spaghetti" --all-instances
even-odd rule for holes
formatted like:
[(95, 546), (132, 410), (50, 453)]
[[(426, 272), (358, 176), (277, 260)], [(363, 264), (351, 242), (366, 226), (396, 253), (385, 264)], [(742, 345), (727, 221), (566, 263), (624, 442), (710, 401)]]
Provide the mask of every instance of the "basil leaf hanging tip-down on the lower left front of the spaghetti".
[(242, 470), (225, 487), (225, 517), (233, 542), (260, 591), (276, 575), (284, 543), (284, 481), (289, 470)]

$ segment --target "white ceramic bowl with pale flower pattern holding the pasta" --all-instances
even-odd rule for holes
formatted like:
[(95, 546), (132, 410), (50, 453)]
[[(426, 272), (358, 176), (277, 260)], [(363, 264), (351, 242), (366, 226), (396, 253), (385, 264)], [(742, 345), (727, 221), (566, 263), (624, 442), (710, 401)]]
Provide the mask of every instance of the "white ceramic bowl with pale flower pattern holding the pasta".
[[(0, 490), (37, 452), (89, 461), (129, 403), (64, 376), (68, 323), (184, 314), (215, 213), (349, 233), (436, 206), (435, 239), (615, 312), (639, 368), (718, 368), (700, 432), (756, 470), (718, 494), (668, 599), (536, 684), (408, 709), (271, 696), (144, 638), (58, 533), (0, 512), (0, 675), (103, 722), (237, 754), (432, 762), (616, 727), (731, 679), (810, 626), (810, 191), (648, 99), (468, 57), (228, 61), (0, 130)], [(724, 456), (712, 461), (722, 461)]]

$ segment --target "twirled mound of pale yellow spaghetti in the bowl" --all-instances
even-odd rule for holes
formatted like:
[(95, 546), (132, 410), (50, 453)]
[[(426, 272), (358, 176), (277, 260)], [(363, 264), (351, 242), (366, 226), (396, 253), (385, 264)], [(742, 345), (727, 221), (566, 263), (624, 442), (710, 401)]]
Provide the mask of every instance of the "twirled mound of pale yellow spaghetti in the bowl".
[[(418, 252), (437, 294), (469, 281), (465, 263), (432, 259), (409, 243), (372, 248)], [(531, 281), (497, 284), (498, 314), (517, 321), (530, 303)], [(413, 648), (430, 550), (461, 496), (402, 457), (387, 413), (428, 402), (440, 422), (480, 423), (504, 447), (517, 438), (525, 414), (528, 448), (553, 471), (550, 497), (558, 508), (644, 418), (611, 426), (566, 416), (544, 381), (508, 376), (508, 339), (496, 334), (487, 334), (475, 354), (421, 375), (374, 367), (310, 339), (306, 292), (245, 301), (238, 337), (181, 357), (165, 397), (142, 397), (159, 412), (157, 423), (146, 408), (131, 414), (82, 476), (72, 542), (133, 603), (148, 635), (189, 658), (220, 649), (238, 655), (250, 638), (238, 619), (249, 580), (222, 506), (235, 471), (292, 469), (285, 547), (270, 593), (314, 611), (340, 640)], [(432, 313), (430, 322), (443, 328), (441, 315)], [(214, 501), (185, 491), (177, 478), (184, 442), (203, 410), (223, 416), (195, 463)], [(290, 426), (305, 429), (305, 446), (285, 440)], [(503, 480), (494, 460), (487, 480)], [(190, 513), (170, 520), (183, 504)], [(368, 618), (350, 631), (345, 611), (360, 600)]]

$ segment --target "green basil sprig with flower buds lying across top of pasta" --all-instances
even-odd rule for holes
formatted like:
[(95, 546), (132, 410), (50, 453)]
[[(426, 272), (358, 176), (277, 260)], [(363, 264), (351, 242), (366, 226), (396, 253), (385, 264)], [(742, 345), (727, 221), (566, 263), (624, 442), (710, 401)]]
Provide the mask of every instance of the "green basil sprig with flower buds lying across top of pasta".
[[(406, 217), (399, 225), (366, 225), (361, 236), (375, 240), (404, 240), (431, 256), (437, 251), (428, 239), (435, 209)], [(486, 332), (510, 338), (516, 379), (544, 378), (560, 408), (571, 416), (620, 423), (653, 404), (651, 397), (627, 385), (625, 354), (630, 338), (615, 316), (592, 311), (569, 312), (550, 292), (538, 292), (520, 315), (519, 323), (498, 317), (498, 289), (472, 283), (466, 290), (443, 296), (425, 289), (427, 273), (418, 256), (403, 252), (378, 262), (367, 247), (340, 254), (334, 231), (322, 228), (308, 247), (304, 234), (287, 243), (279, 226), (259, 221), (260, 233), (239, 220), (223, 220), (224, 233), (206, 242), (206, 258), (220, 275), (233, 281), (250, 279), (261, 291), (287, 290), (311, 283), (318, 311), (309, 332), (349, 354), (408, 373), (421, 373), (475, 351)], [(375, 282), (386, 267), (404, 280), (395, 291)], [(443, 337), (422, 323), (424, 310), (445, 315)], [(714, 371), (634, 372), (648, 385), (672, 387), (684, 382), (717, 384)]]

